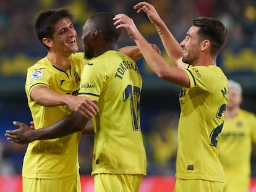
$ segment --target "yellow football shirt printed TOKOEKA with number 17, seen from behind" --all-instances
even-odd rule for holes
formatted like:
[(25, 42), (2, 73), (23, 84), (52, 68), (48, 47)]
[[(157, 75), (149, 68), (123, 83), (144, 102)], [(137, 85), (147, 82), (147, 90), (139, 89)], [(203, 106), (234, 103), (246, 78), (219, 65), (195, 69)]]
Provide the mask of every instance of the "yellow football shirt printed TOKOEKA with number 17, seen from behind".
[(146, 174), (140, 130), (142, 77), (130, 57), (107, 51), (92, 59), (81, 75), (79, 96), (98, 99), (92, 175)]

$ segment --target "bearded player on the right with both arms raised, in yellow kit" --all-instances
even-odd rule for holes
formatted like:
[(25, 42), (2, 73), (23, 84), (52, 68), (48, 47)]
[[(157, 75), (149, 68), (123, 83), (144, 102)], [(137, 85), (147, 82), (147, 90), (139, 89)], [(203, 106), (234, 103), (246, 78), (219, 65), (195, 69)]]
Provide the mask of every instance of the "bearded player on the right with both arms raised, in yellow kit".
[(216, 57), (226, 43), (226, 27), (218, 19), (198, 17), (179, 44), (154, 6), (139, 2), (134, 9), (147, 14), (177, 67), (150, 47), (127, 15), (116, 15), (116, 27), (126, 28), (158, 77), (183, 87), (174, 191), (223, 191), (224, 171), (216, 146), (228, 102), (228, 80), (216, 66)]

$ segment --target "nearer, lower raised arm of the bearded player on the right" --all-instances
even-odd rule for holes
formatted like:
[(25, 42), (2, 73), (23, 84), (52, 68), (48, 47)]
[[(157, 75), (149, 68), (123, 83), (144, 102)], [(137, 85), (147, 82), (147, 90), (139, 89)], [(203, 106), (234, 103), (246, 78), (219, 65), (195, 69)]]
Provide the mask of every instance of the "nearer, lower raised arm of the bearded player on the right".
[(130, 17), (125, 14), (118, 14), (114, 17), (114, 20), (114, 25), (116, 25), (117, 28), (126, 28), (130, 38), (135, 41), (140, 49), (145, 61), (153, 72), (158, 75), (158, 77), (186, 88), (190, 87), (190, 81), (187, 73), (183, 69), (173, 67), (163, 57), (161, 57), (161, 55), (150, 46), (148, 41), (145, 40)]

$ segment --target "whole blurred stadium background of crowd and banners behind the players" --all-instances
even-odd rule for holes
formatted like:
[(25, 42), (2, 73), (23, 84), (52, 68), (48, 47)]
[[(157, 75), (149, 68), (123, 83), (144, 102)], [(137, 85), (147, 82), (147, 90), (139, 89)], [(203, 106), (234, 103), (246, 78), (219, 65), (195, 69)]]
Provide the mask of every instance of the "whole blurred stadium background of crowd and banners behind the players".
[[(166, 57), (160, 38), (145, 14), (137, 14), (135, 0), (1, 0), (0, 2), (0, 191), (20, 191), (25, 145), (6, 141), (4, 131), (15, 128), (13, 120), (29, 123), (30, 111), (24, 91), (27, 67), (46, 55), (33, 34), (36, 14), (41, 10), (70, 6), (76, 15), (80, 51), (81, 28), (95, 12), (125, 13), (135, 20), (150, 43), (157, 44)], [(218, 57), (228, 78), (244, 88), (242, 108), (256, 113), (256, 1), (250, 0), (151, 0), (178, 41), (183, 40), (192, 20), (198, 16), (217, 17), (228, 28), (228, 42)], [(134, 44), (123, 31), (119, 47)], [(180, 87), (160, 80), (140, 59), (143, 76), (141, 102), (142, 131), (148, 159), (148, 176), (140, 191), (168, 191), (173, 187), (177, 147), (178, 94)], [(256, 127), (255, 127), (256, 128)], [(93, 136), (83, 135), (80, 143), (80, 172), (83, 191), (92, 191), (90, 178)], [(256, 191), (256, 149), (252, 152), (252, 187)], [(85, 187), (85, 185), (87, 187)], [(85, 189), (86, 188), (86, 189)], [(90, 190), (89, 190), (90, 188)]]

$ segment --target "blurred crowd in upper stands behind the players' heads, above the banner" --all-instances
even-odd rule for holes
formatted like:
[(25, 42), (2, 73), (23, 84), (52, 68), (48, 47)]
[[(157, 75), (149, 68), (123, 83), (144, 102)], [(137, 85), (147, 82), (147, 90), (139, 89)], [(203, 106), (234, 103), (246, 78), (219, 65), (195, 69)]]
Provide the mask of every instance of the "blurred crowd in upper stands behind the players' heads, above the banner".
[[(69, 6), (76, 15), (77, 31), (80, 33), (85, 20), (95, 12), (109, 11), (124, 13), (135, 20), (143, 35), (149, 40), (158, 41), (156, 30), (145, 14), (137, 14), (133, 6), (139, 1), (124, 0), (3, 0), (0, 6), (0, 50), (5, 54), (25, 51), (40, 53), (43, 46), (33, 34), (35, 15), (41, 10)], [(187, 27), (198, 16), (217, 17), (228, 28), (228, 44), (234, 48), (256, 45), (256, 1), (252, 0), (151, 0), (162, 19), (171, 28), (177, 40), (182, 40)], [(124, 33), (121, 43), (129, 38)]]

